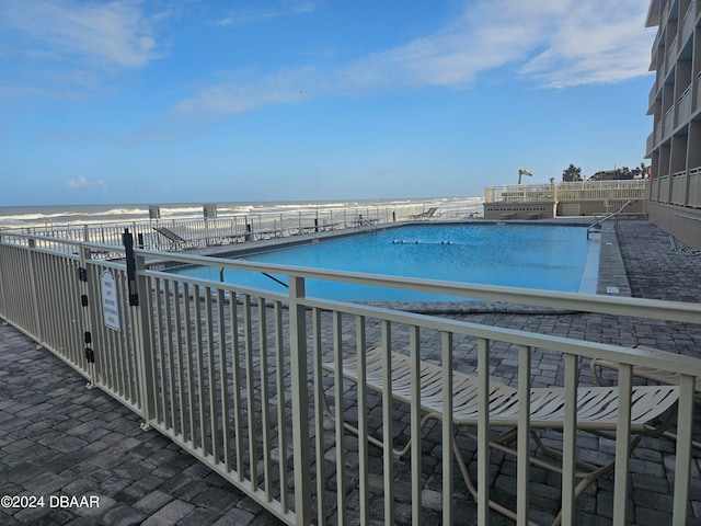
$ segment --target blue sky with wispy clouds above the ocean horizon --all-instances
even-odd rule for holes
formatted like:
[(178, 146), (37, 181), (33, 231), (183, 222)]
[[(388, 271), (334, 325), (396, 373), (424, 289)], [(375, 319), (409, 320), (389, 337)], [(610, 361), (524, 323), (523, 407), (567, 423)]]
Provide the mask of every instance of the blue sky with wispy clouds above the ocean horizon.
[(647, 5), (0, 0), (0, 205), (472, 196), (520, 168), (633, 168)]

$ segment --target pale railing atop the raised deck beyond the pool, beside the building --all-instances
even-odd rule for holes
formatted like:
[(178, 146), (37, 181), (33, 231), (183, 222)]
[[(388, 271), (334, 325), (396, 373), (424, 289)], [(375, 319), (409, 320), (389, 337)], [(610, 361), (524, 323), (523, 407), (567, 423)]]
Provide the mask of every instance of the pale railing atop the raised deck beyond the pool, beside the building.
[(558, 184), (512, 184), (485, 188), (485, 203), (553, 201), (636, 201), (645, 198), (647, 180), (583, 181)]

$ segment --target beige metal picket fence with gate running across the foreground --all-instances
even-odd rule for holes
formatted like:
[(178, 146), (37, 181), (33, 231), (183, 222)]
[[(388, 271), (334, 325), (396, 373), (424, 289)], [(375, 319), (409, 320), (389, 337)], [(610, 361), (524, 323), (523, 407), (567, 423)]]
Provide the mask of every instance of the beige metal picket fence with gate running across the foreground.
[[(128, 244), (128, 243), (127, 243)], [(95, 254), (119, 253), (126, 262)], [(288, 294), (154, 272), (146, 260), (215, 265), (286, 275)], [(133, 262), (130, 264), (129, 262)], [(480, 375), (480, 424), (474, 453), (480, 498), (479, 524), (490, 524), (490, 358), (513, 346), (521, 382), (535, 379), (531, 358), (548, 355), (566, 363), (564, 387), (579, 382), (578, 368), (593, 357), (624, 364), (620, 403), (630, 404), (631, 369), (656, 367), (681, 375), (674, 464), (674, 524), (686, 524), (693, 418), (693, 381), (701, 361), (669, 353), (636, 352), (617, 345), (487, 327), (432, 316), (310, 298), (308, 279), (409, 288), (457, 297), (485, 298), (581, 311), (698, 323), (701, 306), (632, 298), (518, 290), (437, 282), (263, 265), (182, 253), (73, 243), (42, 237), (3, 235), (0, 243), (0, 316), (61, 357), (94, 387), (143, 418), (143, 426), (169, 436), (287, 524), (393, 524), (397, 498), (411, 493), (411, 522), (421, 524), (426, 484), (443, 495), (444, 524), (458, 522), (453, 488), (453, 445), (467, 447), (452, 426), (439, 430), (438, 479), (422, 462), (421, 410), (399, 413), (387, 389), (376, 396), (329, 376), (345, 357), (364, 363), (369, 346), (439, 364), (444, 385), (455, 364)], [(466, 362), (466, 357), (469, 359)], [(413, 381), (418, 362), (413, 361)], [(476, 370), (474, 370), (476, 366)], [(470, 373), (470, 370), (466, 370)], [(365, 378), (366, 371), (359, 373)], [(389, 387), (389, 386), (388, 386)], [(522, 387), (527, 389), (528, 387)], [(338, 423), (327, 425), (323, 398), (333, 401)], [(563, 524), (574, 524), (575, 418), (564, 423)], [(412, 441), (410, 465), (398, 465), (391, 443), (382, 449), (353, 439), (344, 423), (376, 437)], [(519, 430), (528, 436), (528, 420)], [(613, 524), (627, 524), (629, 427), (619, 420), (616, 447)], [(528, 524), (528, 448), (518, 449), (518, 524)], [(400, 480), (402, 482), (398, 482)], [(458, 479), (459, 480), (459, 479)]]

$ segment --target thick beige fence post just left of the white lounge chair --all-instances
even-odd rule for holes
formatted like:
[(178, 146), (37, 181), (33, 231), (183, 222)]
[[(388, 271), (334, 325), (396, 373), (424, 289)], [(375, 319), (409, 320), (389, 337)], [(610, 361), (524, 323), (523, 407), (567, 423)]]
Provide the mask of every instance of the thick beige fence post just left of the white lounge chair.
[(307, 526), (311, 524), (312, 478), (309, 455), (307, 312), (304, 306), (299, 304), (299, 299), (304, 297), (304, 278), (290, 276), (288, 283), (292, 445), (295, 450), (295, 514), (297, 515), (296, 523), (300, 526)]

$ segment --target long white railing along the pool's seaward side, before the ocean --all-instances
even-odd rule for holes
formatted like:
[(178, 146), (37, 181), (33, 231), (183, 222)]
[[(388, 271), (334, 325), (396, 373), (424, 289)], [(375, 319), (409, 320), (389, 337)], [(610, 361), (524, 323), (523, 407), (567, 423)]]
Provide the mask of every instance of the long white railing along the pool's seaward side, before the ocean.
[[(435, 205), (435, 203), (433, 203)], [(481, 204), (446, 204), (437, 207), (436, 218), (457, 218), (470, 214), (481, 215)], [(480, 208), (480, 211), (476, 210)], [(271, 238), (286, 238), (343, 228), (371, 228), (379, 224), (412, 220), (425, 213), (425, 205), (399, 205), (392, 207), (355, 206), (337, 209), (309, 210), (292, 214), (254, 214), (202, 219), (145, 219), (129, 222), (88, 225), (53, 225), (25, 227), (22, 233), (49, 236), (70, 241), (99, 244), (119, 244), (125, 228), (134, 235), (138, 248), (147, 250), (173, 250), (176, 248), (209, 247), (240, 243)], [(182, 242), (174, 243), (157, 229), (165, 228)], [(2, 231), (2, 229), (0, 229)]]

